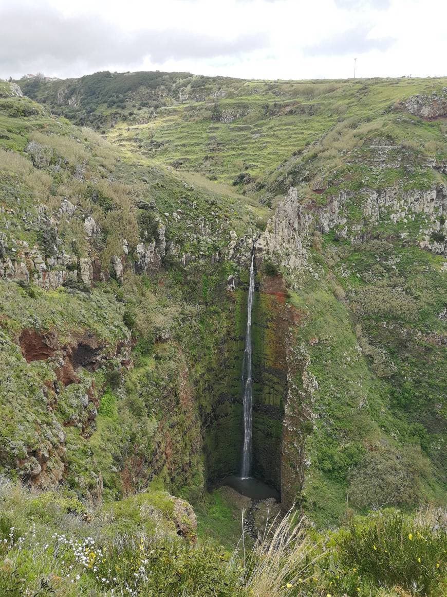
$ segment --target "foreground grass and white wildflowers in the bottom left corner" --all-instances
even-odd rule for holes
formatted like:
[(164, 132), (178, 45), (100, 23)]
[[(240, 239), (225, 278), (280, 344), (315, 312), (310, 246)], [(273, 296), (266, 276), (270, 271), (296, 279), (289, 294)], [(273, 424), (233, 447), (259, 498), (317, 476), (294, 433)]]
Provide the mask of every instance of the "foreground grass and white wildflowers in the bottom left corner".
[(169, 498), (144, 495), (87, 512), (73, 492), (49, 501), (0, 478), (0, 595), (237, 595), (230, 554), (177, 536)]

